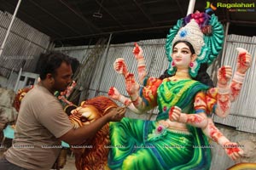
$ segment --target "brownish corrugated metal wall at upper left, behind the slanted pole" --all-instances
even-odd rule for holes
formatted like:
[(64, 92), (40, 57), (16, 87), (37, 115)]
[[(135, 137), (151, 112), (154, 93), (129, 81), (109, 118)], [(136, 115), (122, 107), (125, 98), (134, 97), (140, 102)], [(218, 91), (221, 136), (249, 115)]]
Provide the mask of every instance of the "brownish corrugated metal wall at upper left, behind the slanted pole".
[[(0, 11), (0, 43), (6, 35), (12, 14)], [(0, 57), (0, 75), (9, 77), (11, 71), (34, 71), (39, 54), (49, 46), (49, 36), (15, 19)]]

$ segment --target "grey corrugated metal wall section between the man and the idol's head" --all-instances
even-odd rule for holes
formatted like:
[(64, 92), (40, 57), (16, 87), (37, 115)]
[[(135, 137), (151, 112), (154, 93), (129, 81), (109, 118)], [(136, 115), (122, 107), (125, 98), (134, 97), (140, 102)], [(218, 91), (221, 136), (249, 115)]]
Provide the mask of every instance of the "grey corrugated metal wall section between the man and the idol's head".
[[(165, 39), (146, 40), (138, 43), (143, 48), (147, 70), (149, 72), (148, 74), (153, 77), (159, 77), (160, 74), (162, 74), (168, 66), (164, 49)], [(83, 56), (84, 54), (84, 52), (80, 50), (81, 48), (84, 48), (85, 52), (87, 47), (80, 47), (79, 49), (55, 48), (55, 50), (63, 51), (66, 54), (69, 54), (70, 56), (75, 58), (77, 58), (78, 56), (78, 59), (81, 60), (81, 56)], [(106, 59), (106, 62), (104, 62), (105, 59), (101, 58), (101, 61), (97, 65), (95, 77), (90, 87), (90, 97), (95, 97), (96, 91), (99, 91), (100, 94), (106, 95), (108, 93), (108, 88), (110, 88), (111, 86), (118, 88), (121, 94), (127, 95), (125, 91), (124, 78), (115, 71), (113, 71), (113, 62), (117, 58), (124, 58), (126, 64), (128, 65), (129, 71), (135, 73), (135, 76), (137, 78), (137, 61), (132, 54), (133, 48), (134, 44), (132, 42), (118, 45), (110, 45), (107, 54), (108, 59)], [(103, 67), (104, 71), (102, 71)], [(101, 74), (103, 74), (102, 79), (100, 78)], [(97, 89), (98, 87), (99, 89)]]

